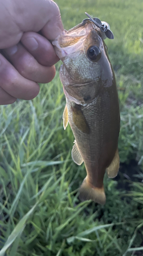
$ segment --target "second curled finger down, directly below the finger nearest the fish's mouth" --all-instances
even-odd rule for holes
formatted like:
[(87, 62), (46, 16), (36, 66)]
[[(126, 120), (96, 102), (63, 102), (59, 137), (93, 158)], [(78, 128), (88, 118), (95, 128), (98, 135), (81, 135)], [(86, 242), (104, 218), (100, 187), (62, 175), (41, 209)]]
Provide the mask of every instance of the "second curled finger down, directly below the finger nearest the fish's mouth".
[(4, 50), (15, 69), (25, 78), (39, 82), (50, 82), (55, 75), (55, 68), (42, 66), (37, 60), (19, 43), (17, 46)]

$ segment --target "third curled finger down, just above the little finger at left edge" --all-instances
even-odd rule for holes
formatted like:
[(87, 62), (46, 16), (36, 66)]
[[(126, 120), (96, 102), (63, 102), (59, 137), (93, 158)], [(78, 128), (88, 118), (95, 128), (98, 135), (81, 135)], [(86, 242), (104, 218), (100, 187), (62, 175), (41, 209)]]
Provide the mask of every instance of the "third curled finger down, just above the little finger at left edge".
[(21, 76), (11, 63), (0, 54), (0, 86), (14, 98), (30, 100), (39, 93), (38, 83)]

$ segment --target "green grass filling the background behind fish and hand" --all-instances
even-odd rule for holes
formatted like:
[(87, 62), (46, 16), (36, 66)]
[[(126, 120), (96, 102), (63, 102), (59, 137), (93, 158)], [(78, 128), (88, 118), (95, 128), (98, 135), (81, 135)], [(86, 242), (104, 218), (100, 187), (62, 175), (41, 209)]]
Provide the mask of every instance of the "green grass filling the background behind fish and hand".
[[(106, 39), (121, 109), (121, 162), (138, 161), (143, 179), (142, 1), (57, 1), (69, 29), (87, 11), (110, 24)], [(73, 134), (63, 129), (65, 97), (59, 78), (41, 84), (36, 99), (1, 106), (0, 256), (133, 256), (143, 251), (143, 189), (105, 176), (105, 206), (78, 200), (85, 168), (71, 160)], [(119, 177), (122, 173), (119, 174)], [(121, 177), (123, 178), (123, 177)]]

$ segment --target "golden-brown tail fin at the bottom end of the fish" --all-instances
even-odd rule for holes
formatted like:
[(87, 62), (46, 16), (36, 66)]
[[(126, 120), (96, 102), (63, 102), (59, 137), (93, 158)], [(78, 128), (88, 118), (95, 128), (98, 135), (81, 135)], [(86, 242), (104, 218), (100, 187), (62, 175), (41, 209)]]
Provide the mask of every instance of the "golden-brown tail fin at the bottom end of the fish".
[(98, 188), (91, 186), (87, 181), (87, 177), (83, 180), (81, 187), (79, 189), (79, 199), (81, 201), (93, 200), (99, 204), (105, 204), (106, 196), (104, 192), (104, 187)]

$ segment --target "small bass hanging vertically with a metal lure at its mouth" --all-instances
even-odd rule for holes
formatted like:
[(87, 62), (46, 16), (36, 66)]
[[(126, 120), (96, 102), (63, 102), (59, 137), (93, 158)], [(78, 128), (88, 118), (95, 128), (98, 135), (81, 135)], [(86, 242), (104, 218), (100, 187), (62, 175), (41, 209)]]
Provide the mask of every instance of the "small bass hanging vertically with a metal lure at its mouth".
[(104, 205), (105, 172), (118, 174), (120, 109), (116, 77), (100, 29), (83, 20), (52, 41), (62, 60), (60, 79), (66, 96), (63, 125), (70, 124), (75, 141), (72, 159), (84, 162), (87, 176), (79, 188), (79, 199)]

